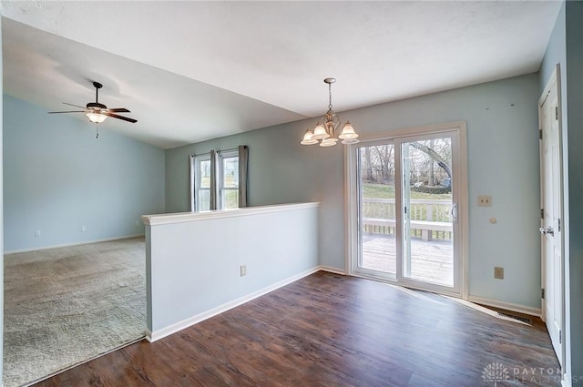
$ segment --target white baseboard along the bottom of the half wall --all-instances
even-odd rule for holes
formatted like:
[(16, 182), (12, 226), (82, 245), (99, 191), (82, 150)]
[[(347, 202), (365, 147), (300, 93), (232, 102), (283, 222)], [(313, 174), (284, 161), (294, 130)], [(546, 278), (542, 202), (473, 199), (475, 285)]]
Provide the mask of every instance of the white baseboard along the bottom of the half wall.
[[(214, 316), (216, 316), (224, 311), (229, 311), (230, 309), (236, 308), (236, 307), (244, 304), (245, 302), (249, 302), (249, 301), (254, 300), (258, 297), (261, 297), (262, 295), (265, 295), (273, 290), (280, 289), (280, 288), (284, 287), (285, 285), (289, 285), (290, 283), (292, 283), (296, 280), (301, 280), (302, 278), (307, 277), (310, 274), (313, 274), (316, 271), (320, 271), (320, 270), (331, 271), (331, 270), (333, 270), (333, 268), (322, 267), (321, 265), (314, 266), (312, 269), (302, 271), (301, 273), (293, 275), (292, 277), (289, 277), (285, 280), (280, 280), (280, 281), (275, 282), (274, 284), (267, 286), (261, 290), (253, 291), (252, 293), (250, 293), (246, 296), (240, 297), (239, 299), (226, 302), (222, 305), (219, 305), (216, 308), (211, 309), (210, 311), (203, 311), (202, 313), (199, 313), (195, 316), (192, 316), (189, 319), (179, 321), (175, 324), (169, 325), (166, 328), (162, 328), (161, 330), (158, 330), (158, 331), (149, 331), (148, 330), (148, 331), (146, 331), (146, 339), (149, 342), (158, 341), (158, 340), (165, 338), (166, 336), (169, 336), (173, 333), (176, 333), (178, 331), (182, 331), (185, 328), (189, 328), (190, 326), (192, 326), (194, 324), (198, 324), (200, 321), (205, 321), (205, 320), (210, 319), (211, 317), (214, 317)], [(335, 269), (335, 271), (331, 271), (331, 272), (336, 272), (338, 274), (342, 274), (342, 272), (337, 270), (337, 269)]]

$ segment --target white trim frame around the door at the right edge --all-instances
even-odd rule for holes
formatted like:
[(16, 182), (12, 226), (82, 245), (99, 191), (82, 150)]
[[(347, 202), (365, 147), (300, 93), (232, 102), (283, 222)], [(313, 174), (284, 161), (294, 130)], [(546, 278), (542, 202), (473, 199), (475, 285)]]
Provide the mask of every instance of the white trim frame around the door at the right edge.
[[(561, 114), (561, 85), (560, 85), (560, 66), (557, 64), (557, 66), (555, 66), (555, 69), (553, 70), (553, 73), (551, 74), (551, 76), (549, 77), (548, 81), (547, 81), (547, 86), (545, 87), (545, 89), (543, 90), (542, 95), (540, 96), (540, 98), (538, 99), (538, 129), (539, 129), (539, 133), (541, 133), (540, 135), (540, 141), (539, 141), (539, 152), (540, 152), (540, 209), (542, 212), (542, 209), (544, 207), (544, 179), (543, 179), (543, 175), (544, 175), (544, 160), (543, 160), (543, 154), (544, 154), (544, 148), (543, 148), (543, 139), (542, 139), (542, 130), (543, 130), (543, 105), (545, 103), (545, 101), (547, 100), (547, 96), (550, 94), (551, 92), (551, 87), (553, 87), (553, 85), (556, 85), (557, 87), (557, 118), (558, 118), (558, 148), (559, 148), (559, 160), (558, 160), (558, 178), (559, 178), (559, 184), (558, 184), (558, 196), (559, 196), (559, 200), (560, 200), (560, 206), (559, 206), (559, 215), (558, 218), (561, 219), (561, 221), (563, 221), (564, 223), (564, 206), (563, 206), (563, 137), (562, 137), (562, 114)], [(547, 225), (543, 224), (543, 215), (541, 214), (541, 219), (540, 219), (540, 227), (547, 227)], [(563, 227), (561, 225), (561, 227)], [(563, 370), (565, 370), (565, 359), (566, 359), (566, 345), (565, 345), (565, 235), (564, 232), (560, 232), (560, 238), (556, 241), (557, 243), (560, 243), (560, 278), (561, 278), (561, 287), (558, 291), (559, 295), (560, 295), (560, 308), (561, 308), (561, 332), (562, 332), (562, 340), (560, 341), (560, 351), (561, 351), (561, 359), (562, 359), (562, 367)], [(546, 251), (545, 251), (545, 244), (542, 243), (542, 239), (541, 239), (541, 253), (540, 253), (540, 268), (541, 268), (541, 289), (545, 289), (546, 287), (546, 276), (547, 276), (547, 261), (546, 261)], [(541, 309), (541, 318), (543, 321), (547, 321), (547, 316), (546, 316), (546, 311), (547, 311), (547, 306), (546, 306), (546, 300), (544, 298), (542, 298), (541, 295), (541, 302), (540, 302), (540, 309)], [(564, 371), (563, 371), (564, 372)]]

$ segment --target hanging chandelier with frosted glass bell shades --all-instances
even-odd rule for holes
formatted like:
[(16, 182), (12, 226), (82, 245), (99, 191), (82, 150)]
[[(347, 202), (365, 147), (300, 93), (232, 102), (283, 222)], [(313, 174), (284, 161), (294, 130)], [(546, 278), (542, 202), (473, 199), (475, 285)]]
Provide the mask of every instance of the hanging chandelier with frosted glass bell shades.
[[(303, 135), (302, 145), (312, 145), (318, 144), (320, 141), (321, 147), (332, 147), (336, 145), (338, 139), (342, 139), (342, 143), (356, 144), (359, 142), (358, 134), (354, 131), (353, 125), (350, 121), (342, 126), (342, 131), (340, 130), (341, 122), (340, 118), (332, 111), (332, 84), (336, 82), (336, 78), (326, 78), (324, 83), (328, 84), (328, 111), (326, 114), (318, 119), (316, 126), (313, 129), (308, 128), (306, 133)], [(339, 135), (340, 133), (340, 135)]]

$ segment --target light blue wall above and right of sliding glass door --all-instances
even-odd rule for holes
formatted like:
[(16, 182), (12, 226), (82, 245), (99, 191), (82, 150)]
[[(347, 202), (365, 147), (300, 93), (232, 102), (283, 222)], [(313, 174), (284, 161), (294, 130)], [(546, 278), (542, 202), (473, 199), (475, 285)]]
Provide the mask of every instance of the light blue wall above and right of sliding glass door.
[[(469, 179), (469, 294), (539, 308), (537, 75), (350, 112), (365, 131), (465, 120)], [(492, 195), (492, 207), (477, 207)], [(496, 218), (496, 224), (489, 222)], [(494, 267), (505, 279), (494, 279)]]

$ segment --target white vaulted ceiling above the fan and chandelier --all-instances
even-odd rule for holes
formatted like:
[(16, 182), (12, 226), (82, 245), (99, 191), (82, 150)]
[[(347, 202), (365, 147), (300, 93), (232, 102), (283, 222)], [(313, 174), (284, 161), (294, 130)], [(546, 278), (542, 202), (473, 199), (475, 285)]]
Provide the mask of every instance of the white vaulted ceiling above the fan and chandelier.
[[(558, 1), (2, 1), (4, 91), (161, 148), (538, 70)], [(77, 114), (79, 119), (87, 119)], [(300, 138), (299, 138), (300, 139)]]

